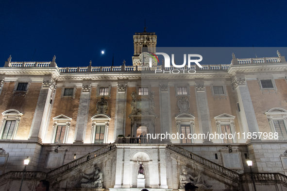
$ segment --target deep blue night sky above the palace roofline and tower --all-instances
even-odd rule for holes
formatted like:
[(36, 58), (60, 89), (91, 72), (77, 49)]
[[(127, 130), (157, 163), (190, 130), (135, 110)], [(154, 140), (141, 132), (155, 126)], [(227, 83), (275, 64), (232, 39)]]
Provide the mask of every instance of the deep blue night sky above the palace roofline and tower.
[(157, 47), (287, 46), (286, 0), (0, 0), (0, 67), (10, 54), (84, 67), (111, 66), (114, 53), (115, 66), (132, 65), (145, 18)]

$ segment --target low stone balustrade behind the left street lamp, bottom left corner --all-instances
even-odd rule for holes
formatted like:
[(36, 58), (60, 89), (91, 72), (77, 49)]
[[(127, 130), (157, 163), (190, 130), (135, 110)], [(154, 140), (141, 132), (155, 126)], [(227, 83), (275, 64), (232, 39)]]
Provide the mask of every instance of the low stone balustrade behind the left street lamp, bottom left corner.
[[(8, 173), (0, 175), (0, 182), (5, 180), (21, 180), (24, 171), (9, 171)], [(46, 173), (39, 171), (26, 171), (24, 175), (25, 180), (41, 180), (46, 178)]]

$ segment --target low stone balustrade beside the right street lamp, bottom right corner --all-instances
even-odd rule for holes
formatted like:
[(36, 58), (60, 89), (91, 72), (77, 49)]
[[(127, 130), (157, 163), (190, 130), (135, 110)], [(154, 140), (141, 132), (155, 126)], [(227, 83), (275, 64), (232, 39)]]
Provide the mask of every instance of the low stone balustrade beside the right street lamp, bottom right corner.
[(243, 173), (240, 174), (240, 180), (242, 182), (252, 181), (251, 174), (255, 182), (260, 181), (277, 181), (287, 184), (287, 176), (280, 173)]

